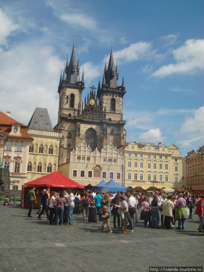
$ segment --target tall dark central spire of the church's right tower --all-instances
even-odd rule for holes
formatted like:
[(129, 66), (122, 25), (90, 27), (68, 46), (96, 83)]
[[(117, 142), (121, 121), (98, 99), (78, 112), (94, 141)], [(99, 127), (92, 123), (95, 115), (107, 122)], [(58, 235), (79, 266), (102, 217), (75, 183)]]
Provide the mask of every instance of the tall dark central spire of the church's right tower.
[[(112, 41), (113, 40), (111, 40), (111, 42)], [(111, 53), (110, 53), (110, 58), (109, 58), (109, 62), (108, 62), (108, 70), (107, 70), (107, 77), (105, 79), (105, 83), (110, 88), (117, 88), (118, 87), (116, 73), (115, 73), (113, 52), (112, 52), (112, 44), (111, 44)]]

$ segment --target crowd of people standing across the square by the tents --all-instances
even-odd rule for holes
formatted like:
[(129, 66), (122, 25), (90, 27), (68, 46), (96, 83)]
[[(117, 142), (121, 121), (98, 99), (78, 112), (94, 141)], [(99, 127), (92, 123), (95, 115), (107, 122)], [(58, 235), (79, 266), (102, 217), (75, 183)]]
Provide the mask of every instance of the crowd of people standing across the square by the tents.
[[(36, 200), (35, 187), (28, 193), (31, 216), (33, 202)], [(113, 216), (113, 228), (122, 229), (123, 233), (134, 231), (134, 222), (138, 222), (137, 211), (141, 208), (140, 219), (144, 220), (144, 227), (166, 229), (185, 229), (185, 220), (193, 220), (193, 212), (199, 215), (198, 231), (204, 235), (204, 195), (185, 193), (138, 193), (138, 192), (106, 192), (83, 189), (78, 192), (74, 189), (63, 189), (62, 192), (51, 192), (49, 189), (42, 190), (39, 203), (38, 220), (41, 215), (47, 215), (50, 225), (73, 225), (73, 212), (83, 214), (83, 220), (88, 217), (88, 207), (96, 207), (99, 221), (102, 221), (102, 229), (110, 226), (110, 217)], [(196, 208), (196, 209), (195, 209)], [(117, 224), (116, 224), (117, 219)], [(161, 225), (160, 225), (161, 222)], [(178, 226), (176, 227), (176, 222)]]

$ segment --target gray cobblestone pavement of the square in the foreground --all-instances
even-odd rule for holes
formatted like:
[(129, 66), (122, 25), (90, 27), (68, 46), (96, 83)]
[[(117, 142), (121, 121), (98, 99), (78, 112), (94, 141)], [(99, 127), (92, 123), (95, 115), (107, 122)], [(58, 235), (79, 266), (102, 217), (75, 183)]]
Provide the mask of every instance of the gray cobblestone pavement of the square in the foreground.
[[(203, 266), (204, 236), (198, 216), (185, 230), (145, 228), (101, 233), (101, 223), (87, 224), (74, 215), (73, 225), (49, 225), (37, 210), (0, 206), (0, 271), (149, 271), (149, 266)], [(141, 209), (138, 210), (140, 214)], [(110, 225), (113, 227), (112, 217)]]

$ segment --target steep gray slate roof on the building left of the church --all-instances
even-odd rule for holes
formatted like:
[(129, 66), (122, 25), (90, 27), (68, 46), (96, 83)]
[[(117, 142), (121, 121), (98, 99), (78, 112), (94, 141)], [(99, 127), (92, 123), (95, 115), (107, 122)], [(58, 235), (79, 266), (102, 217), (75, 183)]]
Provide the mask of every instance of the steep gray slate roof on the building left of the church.
[(47, 108), (35, 109), (34, 114), (28, 123), (28, 128), (45, 131), (54, 131)]

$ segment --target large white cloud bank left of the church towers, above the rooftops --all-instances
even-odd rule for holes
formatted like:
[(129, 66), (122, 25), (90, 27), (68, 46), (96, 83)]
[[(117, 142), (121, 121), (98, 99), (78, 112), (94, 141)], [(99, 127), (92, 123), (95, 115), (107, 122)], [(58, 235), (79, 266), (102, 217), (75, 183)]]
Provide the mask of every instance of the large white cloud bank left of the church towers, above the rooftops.
[(38, 106), (48, 109), (53, 125), (57, 124), (57, 94), (62, 60), (44, 41), (32, 40), (1, 51), (0, 111), (28, 124)]

